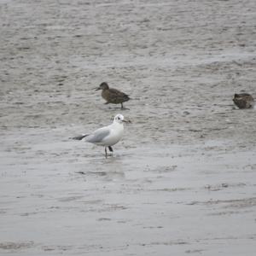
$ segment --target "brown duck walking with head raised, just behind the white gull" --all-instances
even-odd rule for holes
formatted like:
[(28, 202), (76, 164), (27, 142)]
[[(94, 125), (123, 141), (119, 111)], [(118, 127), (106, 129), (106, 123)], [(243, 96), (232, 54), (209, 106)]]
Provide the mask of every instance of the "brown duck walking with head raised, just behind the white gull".
[(123, 103), (128, 102), (130, 97), (119, 90), (109, 88), (106, 82), (100, 84), (96, 90), (102, 90), (102, 98), (106, 100), (105, 104), (121, 104), (121, 109), (124, 108)]

